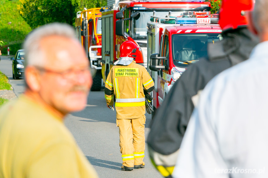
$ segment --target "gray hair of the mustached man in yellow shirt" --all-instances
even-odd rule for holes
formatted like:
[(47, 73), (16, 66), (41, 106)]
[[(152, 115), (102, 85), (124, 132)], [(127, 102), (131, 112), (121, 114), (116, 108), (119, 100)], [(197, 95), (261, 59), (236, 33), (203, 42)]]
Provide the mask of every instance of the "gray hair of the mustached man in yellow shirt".
[(68, 24), (55, 22), (34, 29), (25, 38), (25, 42), (23, 44), (23, 49), (25, 50), (26, 66), (44, 65), (45, 55), (42, 54), (43, 52), (40, 48), (40, 41), (42, 38), (52, 35), (59, 35), (77, 40), (75, 38), (74, 29)]

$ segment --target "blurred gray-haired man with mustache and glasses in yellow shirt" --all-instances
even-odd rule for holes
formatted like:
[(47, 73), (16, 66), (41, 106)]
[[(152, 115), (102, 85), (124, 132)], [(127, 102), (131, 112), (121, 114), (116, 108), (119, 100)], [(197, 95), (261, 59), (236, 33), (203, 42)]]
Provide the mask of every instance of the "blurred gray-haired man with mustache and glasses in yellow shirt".
[(98, 177), (63, 124), (84, 109), (92, 85), (74, 30), (42, 26), (24, 49), (25, 93), (0, 109), (0, 177)]

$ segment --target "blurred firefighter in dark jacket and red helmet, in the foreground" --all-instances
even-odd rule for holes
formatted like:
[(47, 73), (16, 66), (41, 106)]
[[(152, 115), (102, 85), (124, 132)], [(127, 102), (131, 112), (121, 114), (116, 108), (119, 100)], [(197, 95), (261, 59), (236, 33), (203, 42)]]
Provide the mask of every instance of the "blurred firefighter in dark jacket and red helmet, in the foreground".
[(208, 57), (180, 76), (152, 119), (148, 135), (150, 158), (164, 177), (171, 177), (180, 144), (200, 91), (218, 73), (249, 58), (258, 38), (247, 29), (244, 14), (252, 0), (223, 0), (219, 24), (223, 40), (208, 44)]

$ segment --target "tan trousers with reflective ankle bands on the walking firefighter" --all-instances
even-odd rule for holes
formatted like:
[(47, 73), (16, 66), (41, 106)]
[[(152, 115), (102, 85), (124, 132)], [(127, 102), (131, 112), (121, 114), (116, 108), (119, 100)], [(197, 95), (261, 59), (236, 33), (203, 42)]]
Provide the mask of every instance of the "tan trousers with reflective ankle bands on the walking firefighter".
[(143, 164), (145, 150), (145, 115), (137, 119), (116, 119), (120, 135), (120, 152), (123, 165), (134, 167)]

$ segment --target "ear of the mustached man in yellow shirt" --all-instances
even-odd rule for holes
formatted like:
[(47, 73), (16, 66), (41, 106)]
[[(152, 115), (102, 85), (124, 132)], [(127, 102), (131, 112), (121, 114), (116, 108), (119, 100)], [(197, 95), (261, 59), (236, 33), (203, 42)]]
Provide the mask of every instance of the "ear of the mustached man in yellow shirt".
[(25, 68), (25, 82), (28, 85), (29, 89), (35, 92), (38, 92), (40, 89), (40, 73), (33, 67), (29, 66)]

